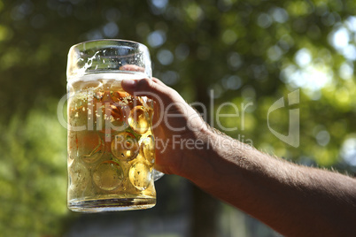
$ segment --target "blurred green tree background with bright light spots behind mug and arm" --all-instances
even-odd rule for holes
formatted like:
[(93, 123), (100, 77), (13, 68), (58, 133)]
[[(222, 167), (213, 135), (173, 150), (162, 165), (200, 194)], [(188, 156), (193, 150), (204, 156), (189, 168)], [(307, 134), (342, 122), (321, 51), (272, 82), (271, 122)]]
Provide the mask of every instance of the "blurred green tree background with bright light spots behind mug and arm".
[[(151, 210), (67, 210), (66, 129), (57, 115), (66, 54), (87, 40), (143, 42), (153, 75), (189, 103), (205, 103), (209, 113), (253, 103), (244, 118), (221, 117), (221, 126), (238, 128), (228, 135), (354, 176), (355, 12), (354, 0), (0, 0), (1, 235), (278, 236), (174, 175), (156, 183)], [(270, 106), (296, 89), (298, 148), (267, 126)], [(270, 114), (280, 134), (288, 134), (289, 110)]]

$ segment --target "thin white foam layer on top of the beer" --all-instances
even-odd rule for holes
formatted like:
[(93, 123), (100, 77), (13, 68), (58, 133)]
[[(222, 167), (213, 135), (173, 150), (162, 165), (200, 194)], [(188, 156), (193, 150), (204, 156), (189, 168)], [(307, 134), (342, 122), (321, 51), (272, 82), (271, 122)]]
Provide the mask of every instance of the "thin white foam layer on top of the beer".
[(89, 80), (139, 80), (143, 78), (148, 78), (145, 73), (90, 73), (85, 74), (82, 76), (73, 76), (68, 77), (67, 81), (74, 82), (74, 81), (89, 81)]

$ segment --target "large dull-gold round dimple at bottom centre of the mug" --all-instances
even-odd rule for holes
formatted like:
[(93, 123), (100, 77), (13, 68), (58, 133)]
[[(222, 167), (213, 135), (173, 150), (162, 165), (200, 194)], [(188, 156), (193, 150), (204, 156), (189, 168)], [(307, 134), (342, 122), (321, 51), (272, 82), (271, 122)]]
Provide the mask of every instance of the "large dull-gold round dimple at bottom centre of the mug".
[(120, 164), (114, 161), (104, 161), (98, 164), (93, 172), (93, 180), (97, 187), (105, 191), (116, 189), (123, 180)]

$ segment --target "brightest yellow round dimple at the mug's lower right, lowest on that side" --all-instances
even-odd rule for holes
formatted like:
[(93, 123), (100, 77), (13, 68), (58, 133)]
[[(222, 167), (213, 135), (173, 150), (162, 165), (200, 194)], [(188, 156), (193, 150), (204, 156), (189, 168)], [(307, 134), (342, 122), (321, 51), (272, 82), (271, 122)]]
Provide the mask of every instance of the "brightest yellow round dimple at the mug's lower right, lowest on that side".
[(143, 191), (151, 184), (150, 168), (146, 164), (136, 163), (131, 166), (128, 178), (135, 188)]

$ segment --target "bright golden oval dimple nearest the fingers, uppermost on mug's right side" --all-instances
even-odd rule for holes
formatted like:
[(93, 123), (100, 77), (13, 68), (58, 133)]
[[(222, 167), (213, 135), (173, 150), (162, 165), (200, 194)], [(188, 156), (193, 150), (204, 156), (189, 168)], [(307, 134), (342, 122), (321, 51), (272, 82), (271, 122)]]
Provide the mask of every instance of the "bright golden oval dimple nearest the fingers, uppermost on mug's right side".
[(138, 134), (144, 134), (149, 129), (149, 119), (147, 111), (143, 110), (143, 106), (135, 106), (131, 110), (128, 117), (128, 124)]

